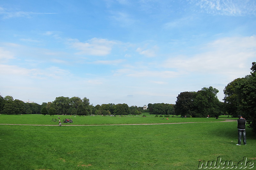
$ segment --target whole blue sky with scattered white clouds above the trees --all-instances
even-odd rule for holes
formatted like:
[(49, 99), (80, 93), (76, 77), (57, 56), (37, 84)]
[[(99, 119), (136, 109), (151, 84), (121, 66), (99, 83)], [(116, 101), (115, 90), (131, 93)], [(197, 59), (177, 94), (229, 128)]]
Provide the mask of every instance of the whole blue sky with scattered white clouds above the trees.
[(0, 0), (0, 92), (175, 104), (256, 62), (254, 0)]

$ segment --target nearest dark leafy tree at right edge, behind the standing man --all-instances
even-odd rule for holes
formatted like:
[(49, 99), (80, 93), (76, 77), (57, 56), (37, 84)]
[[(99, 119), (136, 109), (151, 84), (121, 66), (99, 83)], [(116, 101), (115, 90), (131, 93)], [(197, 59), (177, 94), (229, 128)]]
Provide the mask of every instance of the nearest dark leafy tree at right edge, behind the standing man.
[(227, 112), (233, 116), (242, 115), (256, 133), (256, 63), (252, 63), (251, 74), (237, 78), (224, 89)]

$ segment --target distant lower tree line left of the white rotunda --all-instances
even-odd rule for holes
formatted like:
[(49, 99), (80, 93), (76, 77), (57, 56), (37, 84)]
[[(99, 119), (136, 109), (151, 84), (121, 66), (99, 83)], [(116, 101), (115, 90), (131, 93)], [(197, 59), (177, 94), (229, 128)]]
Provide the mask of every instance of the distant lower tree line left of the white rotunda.
[(0, 95), (0, 113), (2, 114), (43, 114), (43, 115), (140, 115), (143, 107), (127, 104), (102, 104), (95, 107), (84, 97), (56, 97), (52, 102), (25, 103), (12, 96)]

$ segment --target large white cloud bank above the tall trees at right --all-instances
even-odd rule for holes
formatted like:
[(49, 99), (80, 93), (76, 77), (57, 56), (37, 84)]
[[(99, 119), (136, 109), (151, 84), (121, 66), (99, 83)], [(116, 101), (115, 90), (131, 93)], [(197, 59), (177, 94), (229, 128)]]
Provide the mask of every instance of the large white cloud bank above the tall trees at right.
[(255, 61), (256, 36), (227, 37), (213, 41), (201, 50), (207, 51), (188, 56), (178, 56), (164, 61), (165, 68), (175, 68), (183, 73), (220, 74), (235, 79), (250, 72)]

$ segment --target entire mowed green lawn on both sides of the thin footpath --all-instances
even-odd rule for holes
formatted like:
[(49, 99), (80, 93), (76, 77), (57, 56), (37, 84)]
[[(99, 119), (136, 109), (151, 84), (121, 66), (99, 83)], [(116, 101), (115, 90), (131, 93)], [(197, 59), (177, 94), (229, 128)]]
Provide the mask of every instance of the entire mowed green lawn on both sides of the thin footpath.
[[(57, 116), (0, 115), (1, 123), (57, 125), (50, 122), (52, 118)], [(247, 145), (236, 146), (236, 122), (214, 122), (220, 121), (214, 118), (71, 118), (73, 124), (108, 126), (0, 125), (0, 169), (191, 170), (198, 169), (199, 161), (218, 157), (234, 164), (246, 157), (254, 163), (251, 169), (256, 167), (255, 135), (246, 129)], [(172, 122), (197, 123), (110, 125)]]

